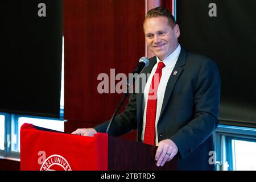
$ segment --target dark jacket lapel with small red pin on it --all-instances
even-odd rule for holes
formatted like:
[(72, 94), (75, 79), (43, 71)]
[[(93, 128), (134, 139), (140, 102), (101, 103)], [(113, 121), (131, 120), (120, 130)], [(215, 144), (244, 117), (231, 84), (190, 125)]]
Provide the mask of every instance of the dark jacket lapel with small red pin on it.
[(185, 64), (185, 56), (186, 56), (187, 52), (181, 48), (180, 51), (180, 55), (179, 58), (177, 59), (177, 62), (175, 64), (174, 69), (172, 70), (171, 76), (167, 82), (166, 85), (166, 91), (164, 93), (164, 99), (163, 99), (163, 105), (162, 105), (162, 109), (160, 112), (160, 116), (163, 114), (164, 108), (166, 107), (168, 100), (172, 94), (172, 90), (174, 90), (174, 86), (179, 78), (179, 76), (181, 75), (181, 73), (183, 72), (183, 65)]

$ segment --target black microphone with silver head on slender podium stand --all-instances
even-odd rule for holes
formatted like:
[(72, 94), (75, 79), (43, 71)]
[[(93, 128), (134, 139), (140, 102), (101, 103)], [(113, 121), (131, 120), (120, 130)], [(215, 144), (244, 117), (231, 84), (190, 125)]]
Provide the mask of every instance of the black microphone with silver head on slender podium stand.
[[(132, 73), (132, 75), (134, 75), (135, 73), (141, 73), (141, 71), (143, 70), (144, 67), (147, 67), (149, 65), (149, 60), (147, 59), (147, 57), (141, 57), (141, 59), (139, 59), (139, 63), (137, 64), (137, 66), (134, 68), (134, 71)], [(134, 78), (134, 77), (133, 77)], [(133, 82), (134, 82), (134, 79), (133, 79)], [(129, 86), (130, 86), (130, 83), (129, 83), (129, 78), (127, 79), (126, 81), (126, 84), (127, 84), (127, 93), (124, 94), (121, 102), (119, 102), (119, 105), (117, 106), (117, 109), (115, 109), (115, 112), (112, 116), (112, 118), (110, 119), (110, 122), (109, 122), (109, 125), (108, 125), (108, 128), (106, 129), (106, 133), (108, 134), (109, 133), (109, 129), (110, 127), (112, 126), (112, 123), (114, 122), (114, 119), (115, 119), (115, 116), (117, 115), (118, 113), (118, 110), (121, 108), (123, 102), (125, 101), (125, 99), (127, 98), (127, 96), (129, 95)]]

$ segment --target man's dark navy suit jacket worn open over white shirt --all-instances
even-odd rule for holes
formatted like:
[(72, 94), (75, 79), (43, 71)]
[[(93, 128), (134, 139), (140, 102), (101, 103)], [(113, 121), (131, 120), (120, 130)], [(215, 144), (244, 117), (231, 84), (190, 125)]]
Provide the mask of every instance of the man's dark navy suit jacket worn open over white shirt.
[[(151, 73), (155, 64), (156, 57), (152, 57), (142, 72)], [(143, 93), (131, 94), (125, 111), (115, 118), (110, 135), (120, 136), (137, 129), (138, 142), (141, 141), (142, 101)], [(168, 138), (176, 144), (179, 170), (214, 169), (209, 164), (209, 152), (214, 150), (212, 133), (218, 126), (219, 103), (220, 75), (216, 64), (181, 47), (166, 86), (157, 126), (159, 142)], [(94, 129), (105, 132), (108, 123)]]

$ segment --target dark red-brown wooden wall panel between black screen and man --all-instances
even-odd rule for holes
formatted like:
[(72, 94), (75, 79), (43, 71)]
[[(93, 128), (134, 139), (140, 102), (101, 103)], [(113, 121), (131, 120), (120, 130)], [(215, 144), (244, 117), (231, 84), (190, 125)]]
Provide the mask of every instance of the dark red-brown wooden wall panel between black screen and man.
[[(144, 56), (144, 1), (64, 0), (64, 118), (101, 123), (122, 94), (99, 94), (100, 73), (133, 71)], [(74, 124), (75, 126), (75, 124)], [(70, 129), (69, 129), (70, 127)], [(72, 124), (65, 124), (71, 130)]]

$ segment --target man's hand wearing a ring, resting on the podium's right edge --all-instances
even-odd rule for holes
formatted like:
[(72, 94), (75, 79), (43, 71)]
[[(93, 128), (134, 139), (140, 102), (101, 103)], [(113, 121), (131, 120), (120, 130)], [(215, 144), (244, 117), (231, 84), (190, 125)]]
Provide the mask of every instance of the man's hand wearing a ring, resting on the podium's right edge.
[(155, 160), (158, 161), (156, 166), (163, 166), (166, 161), (170, 162), (178, 151), (176, 144), (170, 139), (162, 140), (156, 146), (158, 146), (155, 154)]

